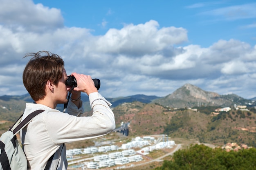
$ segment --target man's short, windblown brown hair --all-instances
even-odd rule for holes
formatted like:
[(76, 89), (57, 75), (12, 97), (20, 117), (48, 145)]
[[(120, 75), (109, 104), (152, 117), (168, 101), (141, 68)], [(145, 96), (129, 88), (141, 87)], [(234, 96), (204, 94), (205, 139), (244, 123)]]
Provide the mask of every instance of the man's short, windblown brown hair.
[(24, 69), (23, 84), (32, 99), (38, 101), (46, 95), (45, 85), (48, 80), (58, 84), (59, 79), (62, 78), (64, 61), (59, 55), (52, 54), (49, 51), (39, 51), (25, 55), (25, 57), (29, 56), (32, 56), (32, 58)]

